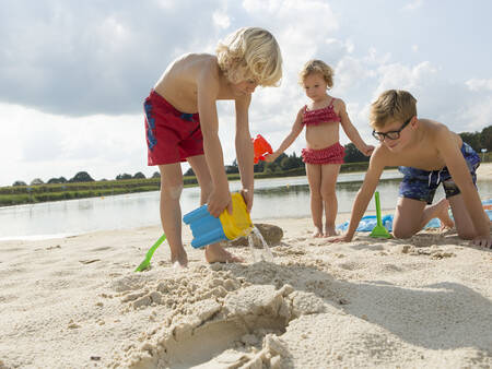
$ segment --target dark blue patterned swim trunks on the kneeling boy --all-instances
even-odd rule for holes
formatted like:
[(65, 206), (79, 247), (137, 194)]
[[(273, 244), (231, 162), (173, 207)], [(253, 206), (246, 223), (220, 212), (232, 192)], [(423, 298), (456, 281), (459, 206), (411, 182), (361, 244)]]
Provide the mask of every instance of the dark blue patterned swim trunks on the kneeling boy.
[[(461, 153), (467, 162), (473, 183), (477, 182), (476, 170), (480, 165), (480, 156), (467, 143), (462, 143)], [(403, 180), (400, 183), (399, 195), (401, 198), (425, 201), (432, 204), (435, 190), (443, 183), (446, 199), (459, 194), (460, 191), (453, 180), (447, 167), (441, 170), (422, 170), (413, 167), (398, 167), (403, 174)]]

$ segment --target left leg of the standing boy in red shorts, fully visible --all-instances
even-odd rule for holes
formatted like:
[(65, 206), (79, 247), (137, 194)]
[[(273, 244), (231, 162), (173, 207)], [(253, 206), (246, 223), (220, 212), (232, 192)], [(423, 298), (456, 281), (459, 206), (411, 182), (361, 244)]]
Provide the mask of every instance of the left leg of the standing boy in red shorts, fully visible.
[(179, 265), (188, 264), (188, 257), (181, 240), (183, 172), (179, 163), (160, 165), (161, 171), (161, 223), (171, 248), (171, 261)]

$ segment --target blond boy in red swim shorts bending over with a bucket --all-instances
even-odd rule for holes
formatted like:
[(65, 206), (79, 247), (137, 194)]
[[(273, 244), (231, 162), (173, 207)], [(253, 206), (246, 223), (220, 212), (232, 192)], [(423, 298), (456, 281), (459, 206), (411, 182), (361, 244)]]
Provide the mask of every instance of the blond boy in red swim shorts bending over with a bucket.
[[(161, 222), (171, 260), (186, 266), (181, 241), (180, 162), (187, 160), (213, 216), (232, 211), (231, 193), (219, 140), (216, 100), (234, 100), (235, 146), (248, 211), (253, 206), (253, 146), (248, 108), (258, 85), (277, 85), (282, 58), (276, 38), (262, 28), (237, 29), (220, 43), (216, 56), (188, 53), (173, 61), (145, 99), (149, 165), (161, 171)], [(206, 248), (208, 262), (239, 261), (219, 243)]]

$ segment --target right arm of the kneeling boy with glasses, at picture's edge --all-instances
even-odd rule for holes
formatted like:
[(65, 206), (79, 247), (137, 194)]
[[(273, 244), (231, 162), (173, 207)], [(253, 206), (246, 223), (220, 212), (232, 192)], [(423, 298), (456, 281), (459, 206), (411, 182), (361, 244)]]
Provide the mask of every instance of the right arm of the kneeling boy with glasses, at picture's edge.
[(442, 126), (440, 131), (435, 135), (435, 143), (440, 154), (444, 158), (449, 174), (453, 180), (458, 186), (462, 200), (465, 202), (468, 215), (473, 223), (477, 237), (473, 239), (473, 243), (477, 246), (492, 247), (492, 238), (490, 235), (490, 221), (483, 211), (480, 195), (477, 191), (477, 187), (473, 184), (473, 180), (468, 169), (468, 165), (461, 151), (457, 147), (456, 141), (453, 138), (452, 132), (447, 127)]

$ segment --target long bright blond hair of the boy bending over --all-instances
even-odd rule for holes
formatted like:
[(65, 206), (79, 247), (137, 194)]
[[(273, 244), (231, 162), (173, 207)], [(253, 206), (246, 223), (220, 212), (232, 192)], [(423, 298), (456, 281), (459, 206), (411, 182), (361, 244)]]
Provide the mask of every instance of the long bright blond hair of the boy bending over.
[(261, 86), (278, 86), (282, 78), (282, 56), (271, 33), (243, 27), (216, 47), (219, 67), (232, 83), (254, 80)]

